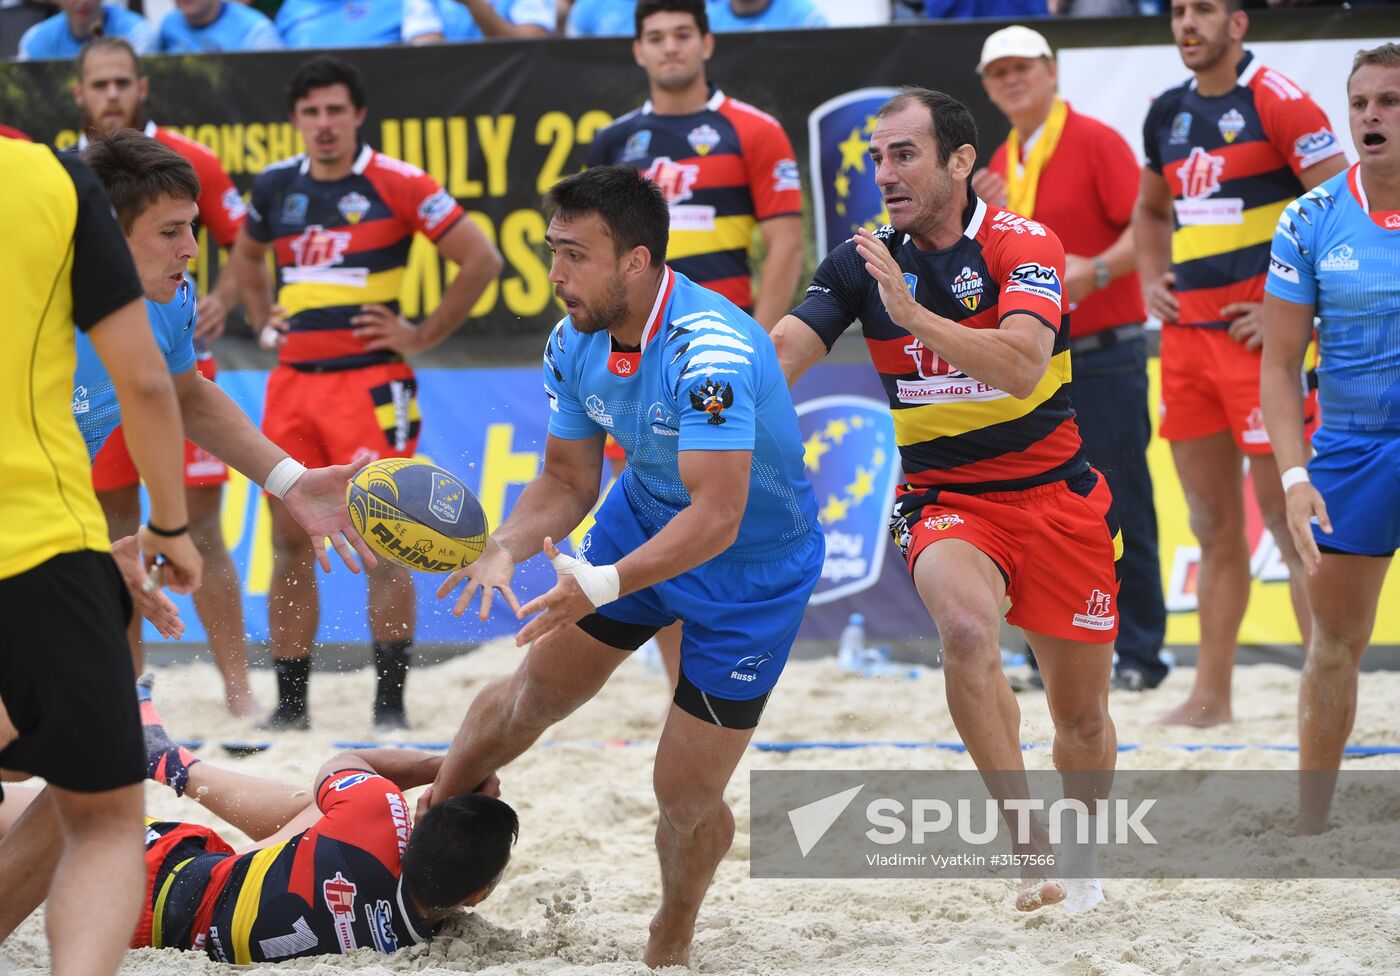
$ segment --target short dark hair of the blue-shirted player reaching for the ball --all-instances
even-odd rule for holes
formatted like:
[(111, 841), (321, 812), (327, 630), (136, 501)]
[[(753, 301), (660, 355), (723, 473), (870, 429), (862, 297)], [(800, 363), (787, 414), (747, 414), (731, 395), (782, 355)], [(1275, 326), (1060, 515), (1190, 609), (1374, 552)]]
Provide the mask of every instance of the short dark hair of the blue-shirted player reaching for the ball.
[(651, 252), (651, 266), (666, 260), (671, 209), (654, 182), (633, 167), (594, 167), (567, 176), (545, 195), (545, 213), (553, 220), (602, 217), (619, 256), (636, 246)]

